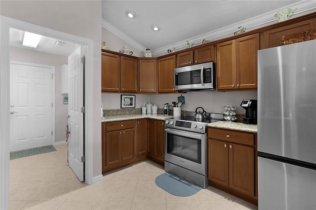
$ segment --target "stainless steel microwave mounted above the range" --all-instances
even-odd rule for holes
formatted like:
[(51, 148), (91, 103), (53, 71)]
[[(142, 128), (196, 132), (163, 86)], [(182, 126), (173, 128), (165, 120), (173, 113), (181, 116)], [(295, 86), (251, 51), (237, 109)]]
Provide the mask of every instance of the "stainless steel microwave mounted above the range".
[(208, 62), (174, 69), (174, 89), (216, 90), (215, 63)]

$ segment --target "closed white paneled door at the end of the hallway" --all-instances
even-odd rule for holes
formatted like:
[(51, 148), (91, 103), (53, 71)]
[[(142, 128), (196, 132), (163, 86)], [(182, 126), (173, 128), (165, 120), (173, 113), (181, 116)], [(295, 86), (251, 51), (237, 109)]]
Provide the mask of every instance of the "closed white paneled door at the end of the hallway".
[(52, 144), (52, 69), (10, 64), (10, 151)]

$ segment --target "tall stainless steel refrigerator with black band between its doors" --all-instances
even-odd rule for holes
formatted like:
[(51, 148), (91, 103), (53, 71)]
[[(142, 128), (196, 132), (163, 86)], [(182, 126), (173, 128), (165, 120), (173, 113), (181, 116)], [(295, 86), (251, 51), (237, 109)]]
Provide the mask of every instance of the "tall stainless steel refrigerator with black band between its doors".
[(258, 209), (316, 210), (316, 40), (258, 51)]

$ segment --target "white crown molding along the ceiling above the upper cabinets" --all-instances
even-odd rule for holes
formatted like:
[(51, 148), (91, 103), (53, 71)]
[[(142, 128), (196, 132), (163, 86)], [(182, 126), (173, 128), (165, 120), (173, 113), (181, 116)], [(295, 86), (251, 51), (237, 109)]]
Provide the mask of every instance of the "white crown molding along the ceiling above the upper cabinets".
[[(316, 3), (315, 0), (303, 0), (297, 3), (293, 3), (288, 5), (287, 7), (290, 8), (297, 8), (295, 11), (295, 16), (300, 16), (302, 13), (307, 13), (307, 12), (314, 12), (312, 10), (316, 10)], [(158, 49), (154, 49), (155, 51), (155, 56), (159, 56), (162, 54), (166, 54), (168, 49), (175, 48), (176, 50), (182, 50), (185, 48), (186, 41), (190, 40), (190, 43), (195, 43), (195, 46), (199, 45), (202, 43), (203, 39), (211, 39), (211, 40), (217, 40), (220, 38), (224, 38), (227, 36), (232, 36), (234, 33), (237, 31), (237, 28), (239, 26), (243, 26), (246, 28), (247, 31), (251, 31), (257, 28), (261, 28), (267, 25), (274, 24), (273, 16), (276, 14), (277, 11), (279, 11), (282, 8), (273, 10), (271, 12), (267, 12), (265, 14), (240, 21), (238, 23), (223, 27), (218, 30), (214, 30), (202, 35), (197, 35), (191, 38), (187, 38), (185, 40), (178, 41), (176, 43), (160, 47)], [(302, 14), (303, 15), (303, 14)], [(129, 38), (127, 35), (116, 29), (114, 26), (112, 26), (110, 23), (106, 22), (105, 20), (102, 19), (102, 27), (113, 33), (114, 35), (117, 35), (119, 38), (122, 40), (126, 41), (139, 51), (145, 51), (145, 47), (134, 41), (133, 39)]]

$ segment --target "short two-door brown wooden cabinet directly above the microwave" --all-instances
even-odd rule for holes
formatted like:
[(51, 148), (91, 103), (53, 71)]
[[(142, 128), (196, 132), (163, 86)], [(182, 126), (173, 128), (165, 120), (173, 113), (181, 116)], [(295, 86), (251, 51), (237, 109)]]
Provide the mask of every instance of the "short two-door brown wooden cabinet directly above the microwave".
[(177, 68), (214, 61), (214, 45), (177, 54)]

